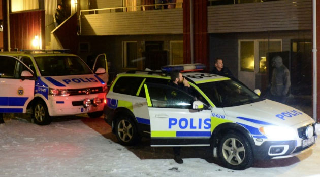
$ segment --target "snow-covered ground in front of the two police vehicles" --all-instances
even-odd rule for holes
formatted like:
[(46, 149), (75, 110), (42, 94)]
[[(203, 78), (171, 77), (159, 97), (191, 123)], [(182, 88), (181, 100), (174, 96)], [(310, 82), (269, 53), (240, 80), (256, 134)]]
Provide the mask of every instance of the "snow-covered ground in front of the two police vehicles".
[(208, 148), (151, 148), (149, 139), (124, 147), (103, 119), (63, 117), (47, 126), (22, 114), (6, 114), (0, 124), (0, 176), (320, 176), (320, 141), (297, 157), (257, 162), (243, 171), (223, 168)]

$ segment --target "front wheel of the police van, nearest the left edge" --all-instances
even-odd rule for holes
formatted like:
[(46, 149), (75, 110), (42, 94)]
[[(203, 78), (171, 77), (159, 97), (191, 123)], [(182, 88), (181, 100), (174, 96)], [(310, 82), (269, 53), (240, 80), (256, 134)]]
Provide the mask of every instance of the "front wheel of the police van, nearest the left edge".
[(47, 105), (43, 101), (36, 102), (31, 118), (33, 118), (34, 122), (38, 125), (49, 125), (52, 121)]

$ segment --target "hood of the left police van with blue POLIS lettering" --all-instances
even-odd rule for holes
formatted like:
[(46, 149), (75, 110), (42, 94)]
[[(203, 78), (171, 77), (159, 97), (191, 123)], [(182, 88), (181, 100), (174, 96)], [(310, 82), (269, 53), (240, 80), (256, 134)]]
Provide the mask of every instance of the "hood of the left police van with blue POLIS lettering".
[(38, 77), (36, 82), (36, 86), (45, 86), (54, 89), (81, 89), (102, 85), (105, 85), (105, 82), (93, 74)]

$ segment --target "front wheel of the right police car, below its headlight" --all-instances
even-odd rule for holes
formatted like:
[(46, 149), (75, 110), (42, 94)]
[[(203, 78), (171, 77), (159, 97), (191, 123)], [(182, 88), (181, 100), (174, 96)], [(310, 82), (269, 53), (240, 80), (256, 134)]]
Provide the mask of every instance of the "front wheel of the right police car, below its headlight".
[(242, 135), (229, 133), (221, 138), (218, 156), (222, 165), (233, 170), (244, 170), (253, 163), (253, 153), (248, 140)]

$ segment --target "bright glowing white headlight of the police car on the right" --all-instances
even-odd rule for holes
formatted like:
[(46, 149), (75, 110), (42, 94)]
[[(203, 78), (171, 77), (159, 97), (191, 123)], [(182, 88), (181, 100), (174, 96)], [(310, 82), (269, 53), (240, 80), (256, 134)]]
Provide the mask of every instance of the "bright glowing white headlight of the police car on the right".
[(268, 126), (260, 127), (259, 131), (270, 139), (294, 140), (297, 132), (291, 127)]

